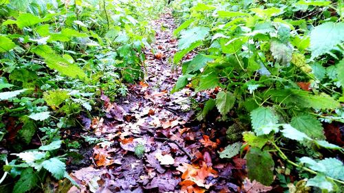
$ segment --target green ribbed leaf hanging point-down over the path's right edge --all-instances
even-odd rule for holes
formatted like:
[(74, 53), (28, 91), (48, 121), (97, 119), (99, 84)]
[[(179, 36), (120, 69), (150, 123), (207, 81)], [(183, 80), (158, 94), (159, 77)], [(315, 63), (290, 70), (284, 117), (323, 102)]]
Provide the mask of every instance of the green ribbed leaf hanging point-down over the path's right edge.
[(216, 96), (216, 107), (221, 115), (226, 115), (233, 108), (235, 97), (233, 93), (220, 91)]

